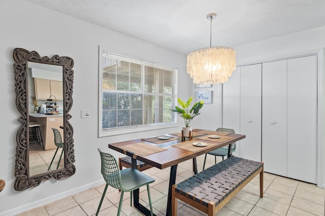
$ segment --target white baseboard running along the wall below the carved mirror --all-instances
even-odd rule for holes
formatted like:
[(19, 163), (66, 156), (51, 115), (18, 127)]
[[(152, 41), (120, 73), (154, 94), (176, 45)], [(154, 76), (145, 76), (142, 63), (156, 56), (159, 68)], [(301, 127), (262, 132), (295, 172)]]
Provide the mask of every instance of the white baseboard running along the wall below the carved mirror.
[(12, 208), (12, 209), (0, 212), (0, 216), (15, 215), (15, 214), (18, 214), (18, 213), (21, 213), (21, 212), (24, 212), (24, 211), (28, 211), (30, 209), (40, 207), (40, 206), (48, 204), (50, 202), (53, 202), (53, 201), (62, 199), (64, 197), (68, 197), (68, 196), (77, 194), (79, 192), (85, 191), (85, 190), (87, 190), (89, 188), (93, 188), (93, 187), (96, 187), (96, 186), (99, 186), (99, 185), (102, 185), (102, 184), (105, 184), (104, 179), (102, 179), (100, 181), (90, 183), (90, 184), (87, 184), (87, 185), (83, 185), (83, 186), (78, 187), (78, 188), (74, 188), (74, 189), (69, 190), (69, 191), (64, 191), (63, 193), (56, 194), (54, 196), (50, 196), (50, 197), (47, 197), (45, 199), (41, 199), (41, 200), (38, 200), (38, 201), (35, 201), (35, 202), (30, 202), (28, 204), (21, 205), (21, 206), (18, 206), (16, 208)]

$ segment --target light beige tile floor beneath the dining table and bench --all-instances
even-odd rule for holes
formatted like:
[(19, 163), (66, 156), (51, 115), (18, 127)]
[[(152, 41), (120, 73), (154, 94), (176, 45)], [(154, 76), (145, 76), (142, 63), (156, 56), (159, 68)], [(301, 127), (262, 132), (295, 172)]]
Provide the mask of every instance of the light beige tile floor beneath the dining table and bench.
[[(204, 156), (197, 158), (198, 169), (202, 170)], [(214, 158), (208, 155), (207, 167), (213, 165)], [(186, 161), (177, 168), (176, 182), (193, 175), (192, 162)], [(150, 186), (153, 211), (156, 215), (166, 214), (168, 179), (170, 168), (151, 168), (144, 171), (155, 178)], [(324, 215), (325, 189), (270, 173), (264, 175), (264, 198), (259, 198), (259, 175), (246, 185), (216, 215)], [(90, 188), (78, 194), (57, 200), (18, 215), (94, 215), (105, 185)], [(109, 187), (99, 215), (116, 215), (120, 193)], [(140, 189), (141, 203), (149, 205), (146, 188)], [(129, 193), (124, 194), (121, 215), (142, 215), (129, 205)], [(178, 215), (205, 215), (199, 210), (178, 202)]]

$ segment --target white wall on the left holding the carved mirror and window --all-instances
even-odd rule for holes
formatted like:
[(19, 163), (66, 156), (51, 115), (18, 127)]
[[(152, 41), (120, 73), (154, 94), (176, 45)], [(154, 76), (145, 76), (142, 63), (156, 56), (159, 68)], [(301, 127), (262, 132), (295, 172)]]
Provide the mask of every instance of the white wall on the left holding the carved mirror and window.
[[(56, 199), (103, 184), (97, 148), (113, 153), (108, 143), (129, 139), (129, 135), (98, 138), (99, 46), (112, 52), (178, 68), (179, 82), (190, 83), (186, 56), (114, 32), (101, 26), (60, 14), (23, 0), (0, 1), (1, 149), (0, 178), (6, 187), (0, 193), (0, 215), (12, 215)], [(59, 181), (50, 179), (40, 186), (15, 191), (16, 133), (20, 126), (16, 109), (14, 48), (37, 51), (41, 56), (70, 56), (74, 59), (74, 88), (71, 124), (74, 129), (76, 173)], [(191, 85), (181, 85), (179, 96), (188, 98)], [(90, 110), (89, 119), (80, 111)], [(182, 122), (180, 122), (180, 126)], [(132, 134), (134, 138), (180, 130), (169, 128)]]

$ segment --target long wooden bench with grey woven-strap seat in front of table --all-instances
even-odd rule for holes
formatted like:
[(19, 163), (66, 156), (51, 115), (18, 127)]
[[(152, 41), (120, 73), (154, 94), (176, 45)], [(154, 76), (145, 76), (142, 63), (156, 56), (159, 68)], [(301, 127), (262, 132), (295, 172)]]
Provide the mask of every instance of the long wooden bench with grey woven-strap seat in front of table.
[(230, 157), (173, 185), (172, 215), (177, 215), (177, 199), (215, 215), (259, 173), (259, 196), (263, 198), (263, 162)]

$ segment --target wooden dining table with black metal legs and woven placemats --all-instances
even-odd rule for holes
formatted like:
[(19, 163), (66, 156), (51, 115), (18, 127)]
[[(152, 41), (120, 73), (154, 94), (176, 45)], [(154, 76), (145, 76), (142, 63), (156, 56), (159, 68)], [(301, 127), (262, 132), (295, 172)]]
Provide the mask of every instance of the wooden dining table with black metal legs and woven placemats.
[[(165, 136), (166, 140), (164, 140)], [(210, 138), (209, 136), (219, 136), (220, 138)], [(187, 138), (185, 141), (182, 141), (180, 133), (170, 133), (156, 137), (109, 143), (108, 147), (131, 157), (132, 168), (136, 168), (136, 160), (143, 161), (159, 169), (171, 167), (166, 208), (166, 215), (171, 215), (172, 186), (176, 181), (177, 165), (192, 159), (193, 171), (197, 173), (196, 157), (227, 145), (231, 147), (232, 143), (243, 138), (245, 138), (245, 135), (193, 129), (191, 140)], [(196, 147), (193, 145), (193, 143), (195, 144), (196, 142), (201, 142), (207, 146)], [(231, 154), (230, 149), (231, 148), (229, 148), (228, 156)], [(135, 190), (133, 194), (134, 206), (145, 215), (150, 215), (150, 210), (139, 203), (139, 189)]]

